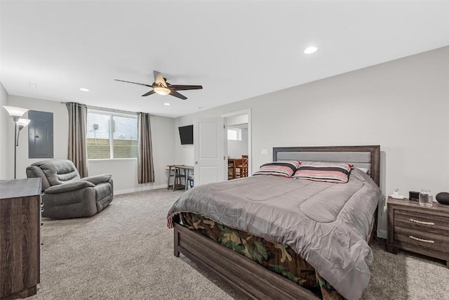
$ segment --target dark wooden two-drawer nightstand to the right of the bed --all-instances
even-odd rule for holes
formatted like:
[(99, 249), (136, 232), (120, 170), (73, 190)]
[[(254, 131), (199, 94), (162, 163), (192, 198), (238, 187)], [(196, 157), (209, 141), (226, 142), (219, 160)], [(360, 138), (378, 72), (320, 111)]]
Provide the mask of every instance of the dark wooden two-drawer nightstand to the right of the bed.
[(449, 266), (449, 205), (434, 202), (422, 207), (416, 201), (387, 200), (387, 252), (398, 249), (443, 259)]

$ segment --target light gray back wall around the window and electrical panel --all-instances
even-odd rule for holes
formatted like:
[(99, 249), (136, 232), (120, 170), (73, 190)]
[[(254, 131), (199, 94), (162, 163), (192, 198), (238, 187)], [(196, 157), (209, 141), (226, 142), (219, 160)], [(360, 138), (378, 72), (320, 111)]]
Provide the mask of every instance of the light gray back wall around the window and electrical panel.
[[(69, 121), (67, 107), (64, 103), (12, 95), (9, 96), (8, 102), (9, 105), (26, 107), (29, 110), (53, 112), (54, 157), (67, 159), (67, 133), (69, 130)], [(154, 183), (138, 184), (137, 159), (91, 161), (88, 162), (89, 175), (111, 173), (112, 178), (114, 178), (115, 193), (128, 193), (136, 190), (161, 188), (166, 186), (167, 181), (165, 168), (167, 164), (173, 164), (175, 157), (175, 138), (173, 134), (175, 119), (152, 116), (151, 125), (155, 176)], [(13, 131), (13, 129), (13, 124), (11, 124), (11, 131)], [(1, 132), (3, 133), (3, 130)], [(33, 162), (41, 160), (28, 158), (27, 132), (27, 129), (24, 129), (24, 131), (22, 131), (22, 133), (20, 134), (17, 161), (17, 178), (26, 178), (26, 167)], [(12, 159), (12, 146), (9, 155), (9, 157), (11, 157)], [(8, 172), (11, 172), (11, 174), (13, 174), (12, 169)]]

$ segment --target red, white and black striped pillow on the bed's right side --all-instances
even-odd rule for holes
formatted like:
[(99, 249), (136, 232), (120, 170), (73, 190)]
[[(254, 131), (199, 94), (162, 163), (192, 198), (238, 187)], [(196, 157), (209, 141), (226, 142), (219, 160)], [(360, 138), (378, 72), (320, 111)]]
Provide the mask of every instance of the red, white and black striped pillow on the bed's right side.
[(350, 164), (335, 164), (330, 162), (302, 162), (293, 178), (308, 179), (331, 183), (347, 183)]

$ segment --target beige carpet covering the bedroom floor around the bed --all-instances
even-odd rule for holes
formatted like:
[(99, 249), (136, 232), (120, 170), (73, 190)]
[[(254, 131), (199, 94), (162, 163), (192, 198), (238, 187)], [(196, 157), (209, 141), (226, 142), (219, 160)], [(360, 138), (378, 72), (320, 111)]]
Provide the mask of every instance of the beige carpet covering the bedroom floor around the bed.
[[(41, 284), (27, 299), (236, 299), (184, 256), (173, 256), (166, 214), (181, 191), (118, 195), (88, 219), (43, 219)], [(363, 299), (449, 299), (443, 261), (373, 245)]]

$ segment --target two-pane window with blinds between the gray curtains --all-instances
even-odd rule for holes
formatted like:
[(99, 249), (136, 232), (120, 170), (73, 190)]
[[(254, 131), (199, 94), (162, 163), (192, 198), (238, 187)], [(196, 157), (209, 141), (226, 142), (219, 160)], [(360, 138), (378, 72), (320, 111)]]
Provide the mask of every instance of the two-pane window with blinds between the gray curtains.
[(86, 144), (88, 159), (137, 158), (137, 115), (88, 110)]

